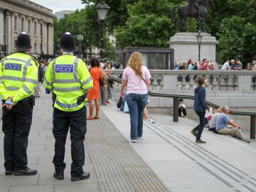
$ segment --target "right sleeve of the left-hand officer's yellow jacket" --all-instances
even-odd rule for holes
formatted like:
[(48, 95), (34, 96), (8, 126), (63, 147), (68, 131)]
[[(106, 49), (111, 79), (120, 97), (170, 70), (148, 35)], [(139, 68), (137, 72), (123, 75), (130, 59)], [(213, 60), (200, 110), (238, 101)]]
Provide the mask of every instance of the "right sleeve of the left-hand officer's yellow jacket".
[(26, 73), (26, 80), (23, 86), (16, 92), (13, 101), (18, 102), (20, 100), (33, 95), (33, 92), (36, 87), (36, 83), (38, 81), (38, 63), (36, 60), (32, 60), (30, 65), (28, 66), (28, 70)]

